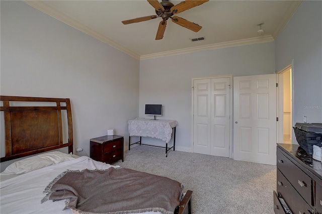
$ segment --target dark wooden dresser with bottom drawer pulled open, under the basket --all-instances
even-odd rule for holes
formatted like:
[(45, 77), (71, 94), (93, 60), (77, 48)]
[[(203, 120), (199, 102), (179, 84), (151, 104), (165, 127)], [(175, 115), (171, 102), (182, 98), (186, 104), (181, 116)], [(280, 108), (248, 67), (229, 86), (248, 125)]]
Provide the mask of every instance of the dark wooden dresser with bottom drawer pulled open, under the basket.
[(322, 163), (312, 159), (300, 146), (277, 144), (277, 192), (275, 213), (322, 214)]

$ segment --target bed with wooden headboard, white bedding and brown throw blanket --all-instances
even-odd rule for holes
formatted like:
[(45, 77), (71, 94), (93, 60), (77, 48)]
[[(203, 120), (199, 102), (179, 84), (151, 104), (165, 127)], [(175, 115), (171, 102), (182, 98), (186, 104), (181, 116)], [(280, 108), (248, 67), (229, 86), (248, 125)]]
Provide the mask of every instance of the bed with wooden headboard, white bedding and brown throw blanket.
[(1, 101), (1, 162), (19, 158), (0, 174), (1, 213), (192, 213), (178, 181), (73, 155), (68, 98)]

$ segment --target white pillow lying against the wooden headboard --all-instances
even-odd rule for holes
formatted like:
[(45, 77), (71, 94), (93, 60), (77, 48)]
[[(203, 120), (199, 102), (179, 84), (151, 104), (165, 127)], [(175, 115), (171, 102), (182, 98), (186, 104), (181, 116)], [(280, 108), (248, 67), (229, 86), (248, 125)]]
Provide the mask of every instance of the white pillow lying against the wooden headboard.
[(54, 151), (32, 156), (10, 164), (2, 174), (23, 174), (74, 158), (70, 154)]

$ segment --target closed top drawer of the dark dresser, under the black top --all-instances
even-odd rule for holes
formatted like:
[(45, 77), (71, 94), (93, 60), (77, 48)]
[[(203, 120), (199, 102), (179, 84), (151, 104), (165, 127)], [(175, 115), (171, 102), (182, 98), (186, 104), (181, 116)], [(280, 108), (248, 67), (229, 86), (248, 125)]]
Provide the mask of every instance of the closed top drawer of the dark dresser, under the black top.
[(280, 151), (277, 151), (277, 168), (310, 205), (313, 205), (312, 179), (292, 163)]

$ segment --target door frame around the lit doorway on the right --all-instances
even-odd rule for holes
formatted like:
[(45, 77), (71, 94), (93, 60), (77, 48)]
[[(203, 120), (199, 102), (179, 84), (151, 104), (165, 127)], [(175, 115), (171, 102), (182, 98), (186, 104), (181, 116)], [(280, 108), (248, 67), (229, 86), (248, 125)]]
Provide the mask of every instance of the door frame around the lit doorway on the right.
[[(283, 68), (280, 71), (277, 71), (277, 83), (278, 83), (278, 89), (277, 89), (277, 103), (276, 103), (276, 114), (278, 117), (278, 123), (277, 123), (277, 127), (276, 127), (276, 142), (277, 143), (283, 143), (283, 125), (284, 125), (284, 119), (283, 119), (283, 110), (284, 110), (284, 104), (283, 104), (283, 78), (279, 78), (280, 75), (283, 75), (283, 73), (287, 70), (291, 69), (291, 83), (292, 83), (292, 87), (291, 87), (291, 104), (292, 104), (292, 108), (291, 108), (291, 120), (292, 123), (294, 122), (294, 60), (292, 59), (291, 64), (287, 65), (285, 68)], [(294, 132), (291, 130), (291, 138), (292, 138), (292, 144), (296, 144), (295, 142), (295, 134)]]

